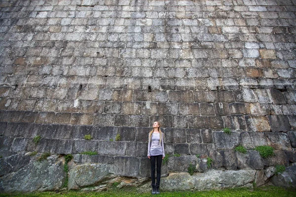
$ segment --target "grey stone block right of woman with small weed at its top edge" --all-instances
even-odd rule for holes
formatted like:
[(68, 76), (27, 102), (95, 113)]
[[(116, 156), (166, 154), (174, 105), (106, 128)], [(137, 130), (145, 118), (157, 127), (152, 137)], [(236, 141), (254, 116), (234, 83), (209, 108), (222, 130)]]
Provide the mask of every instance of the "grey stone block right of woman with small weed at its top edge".
[(233, 149), (239, 145), (239, 133), (226, 134), (222, 131), (213, 131), (214, 143), (218, 150)]

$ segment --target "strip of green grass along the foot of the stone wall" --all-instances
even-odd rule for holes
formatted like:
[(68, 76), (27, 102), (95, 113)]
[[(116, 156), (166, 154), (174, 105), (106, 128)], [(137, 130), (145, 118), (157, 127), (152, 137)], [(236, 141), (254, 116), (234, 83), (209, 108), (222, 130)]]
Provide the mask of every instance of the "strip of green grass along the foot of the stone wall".
[[(185, 192), (162, 192), (159, 197), (295, 197), (296, 190), (279, 187), (235, 188), (210, 191), (185, 191)], [(41, 193), (18, 193), (0, 194), (0, 197), (151, 197), (151, 193), (138, 193), (135, 188), (118, 189), (112, 187), (103, 192), (41, 192)]]

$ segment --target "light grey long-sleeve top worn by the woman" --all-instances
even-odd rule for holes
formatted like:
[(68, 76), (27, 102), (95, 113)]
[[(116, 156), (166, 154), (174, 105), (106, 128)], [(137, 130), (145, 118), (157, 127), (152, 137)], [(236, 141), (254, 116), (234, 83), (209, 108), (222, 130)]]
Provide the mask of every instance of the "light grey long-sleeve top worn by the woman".
[[(149, 135), (148, 135), (149, 138)], [(162, 157), (165, 157), (164, 154), (164, 147), (163, 147), (163, 134), (161, 143), (159, 144), (159, 133), (152, 133), (151, 139), (149, 138), (148, 142), (148, 156), (156, 156), (156, 155), (162, 155)]]

